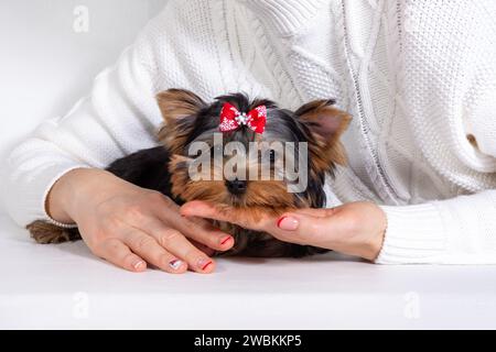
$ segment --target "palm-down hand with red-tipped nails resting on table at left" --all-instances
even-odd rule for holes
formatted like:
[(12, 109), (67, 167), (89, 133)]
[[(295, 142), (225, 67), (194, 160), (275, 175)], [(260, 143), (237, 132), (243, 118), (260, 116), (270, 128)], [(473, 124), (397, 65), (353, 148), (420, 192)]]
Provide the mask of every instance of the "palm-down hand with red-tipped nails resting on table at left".
[(160, 193), (137, 187), (100, 169), (75, 169), (52, 188), (47, 211), (60, 222), (76, 222), (96, 255), (131, 272), (147, 263), (168, 273), (187, 268), (212, 273), (215, 251), (234, 239), (202, 219), (181, 217), (180, 207)]

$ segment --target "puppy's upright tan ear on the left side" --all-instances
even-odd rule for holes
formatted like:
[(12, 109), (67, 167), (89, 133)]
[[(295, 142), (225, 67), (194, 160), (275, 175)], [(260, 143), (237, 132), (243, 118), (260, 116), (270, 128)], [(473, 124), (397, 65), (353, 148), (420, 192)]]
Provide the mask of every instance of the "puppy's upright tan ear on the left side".
[(206, 103), (192, 91), (169, 89), (157, 95), (164, 125), (159, 131), (159, 140), (172, 153), (179, 153), (184, 145), (196, 116)]

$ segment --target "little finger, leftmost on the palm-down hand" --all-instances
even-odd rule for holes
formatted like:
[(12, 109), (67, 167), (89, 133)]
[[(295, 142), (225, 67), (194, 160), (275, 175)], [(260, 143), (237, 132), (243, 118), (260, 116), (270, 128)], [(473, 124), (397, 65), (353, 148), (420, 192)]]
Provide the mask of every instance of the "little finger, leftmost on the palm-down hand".
[(95, 254), (130, 272), (140, 273), (147, 270), (147, 263), (117, 239), (101, 243)]

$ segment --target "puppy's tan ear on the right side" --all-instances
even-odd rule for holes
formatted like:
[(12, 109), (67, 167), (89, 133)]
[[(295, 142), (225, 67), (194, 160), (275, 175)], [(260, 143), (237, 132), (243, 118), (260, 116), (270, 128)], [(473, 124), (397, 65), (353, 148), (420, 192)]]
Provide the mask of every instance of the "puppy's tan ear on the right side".
[(334, 100), (314, 100), (296, 110), (300, 122), (309, 128), (313, 141), (309, 151), (314, 163), (322, 169), (328, 169), (334, 164), (345, 165), (346, 153), (339, 142), (341, 135), (352, 120), (352, 117), (334, 107)]

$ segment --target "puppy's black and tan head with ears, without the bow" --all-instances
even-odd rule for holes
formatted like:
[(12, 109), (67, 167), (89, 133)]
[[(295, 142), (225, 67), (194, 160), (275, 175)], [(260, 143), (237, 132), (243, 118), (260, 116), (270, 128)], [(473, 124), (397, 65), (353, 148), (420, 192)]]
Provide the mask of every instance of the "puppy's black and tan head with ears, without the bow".
[[(191, 91), (170, 89), (159, 94), (158, 101), (165, 120), (159, 138), (172, 155), (172, 193), (185, 201), (274, 213), (321, 207), (325, 175), (345, 163), (339, 136), (351, 118), (331, 100), (292, 112), (240, 94), (207, 105)], [(226, 103), (240, 113), (265, 107), (263, 132), (244, 124), (220, 132)]]

